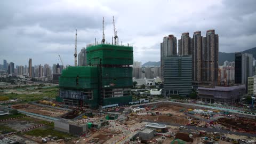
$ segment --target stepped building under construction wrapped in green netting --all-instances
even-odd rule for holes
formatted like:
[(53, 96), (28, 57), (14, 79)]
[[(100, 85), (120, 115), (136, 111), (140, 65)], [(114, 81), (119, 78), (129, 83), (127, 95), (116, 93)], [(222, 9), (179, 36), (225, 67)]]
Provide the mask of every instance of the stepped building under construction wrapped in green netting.
[(133, 47), (99, 44), (86, 49), (84, 67), (68, 67), (59, 78), (67, 105), (98, 107), (132, 101)]

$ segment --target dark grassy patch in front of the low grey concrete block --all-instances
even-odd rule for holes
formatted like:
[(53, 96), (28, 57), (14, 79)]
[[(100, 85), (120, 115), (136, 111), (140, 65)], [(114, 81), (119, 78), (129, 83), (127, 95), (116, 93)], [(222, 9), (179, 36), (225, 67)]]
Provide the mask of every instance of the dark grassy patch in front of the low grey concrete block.
[(71, 135), (71, 134), (54, 130), (54, 128), (53, 128), (54, 126), (49, 126), (49, 127), (50, 127), (49, 129), (38, 128), (38, 129), (31, 130), (31, 131), (27, 131), (27, 132), (25, 132), (25, 134), (32, 135), (35, 137), (39, 137), (39, 136), (47, 137), (48, 135), (51, 135), (52, 137), (57, 136), (60, 139), (73, 137), (73, 135)]

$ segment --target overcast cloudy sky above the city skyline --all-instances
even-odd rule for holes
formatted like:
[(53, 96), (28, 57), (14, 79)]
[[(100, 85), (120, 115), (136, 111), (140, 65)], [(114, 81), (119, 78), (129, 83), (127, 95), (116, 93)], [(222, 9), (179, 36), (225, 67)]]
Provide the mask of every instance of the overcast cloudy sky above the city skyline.
[(159, 61), (164, 36), (197, 30), (219, 34), (219, 51), (238, 52), (256, 46), (256, 1), (1, 1), (0, 63), (15, 65), (60, 63), (74, 65), (75, 29), (77, 52), (102, 39), (102, 17), (108, 42), (133, 45), (134, 60)]

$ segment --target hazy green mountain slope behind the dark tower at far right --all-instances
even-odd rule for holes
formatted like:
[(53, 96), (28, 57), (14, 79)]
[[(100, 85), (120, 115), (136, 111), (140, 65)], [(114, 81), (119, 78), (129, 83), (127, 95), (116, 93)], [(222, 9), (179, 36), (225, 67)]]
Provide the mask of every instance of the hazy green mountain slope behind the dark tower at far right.
[[(250, 53), (252, 54), (253, 58), (256, 58), (256, 47), (252, 49), (242, 51), (242, 53)], [(219, 66), (222, 66), (224, 61), (235, 61), (235, 53), (226, 53), (226, 52), (219, 52)]]

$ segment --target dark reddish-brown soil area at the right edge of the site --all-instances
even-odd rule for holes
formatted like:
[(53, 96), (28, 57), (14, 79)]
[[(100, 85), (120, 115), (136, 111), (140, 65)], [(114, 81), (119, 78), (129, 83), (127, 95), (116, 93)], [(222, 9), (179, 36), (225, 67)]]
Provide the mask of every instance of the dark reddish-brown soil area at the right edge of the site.
[(219, 118), (219, 124), (240, 132), (256, 133), (256, 120), (249, 118)]

